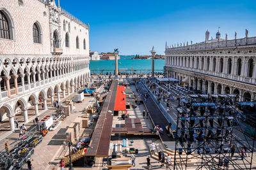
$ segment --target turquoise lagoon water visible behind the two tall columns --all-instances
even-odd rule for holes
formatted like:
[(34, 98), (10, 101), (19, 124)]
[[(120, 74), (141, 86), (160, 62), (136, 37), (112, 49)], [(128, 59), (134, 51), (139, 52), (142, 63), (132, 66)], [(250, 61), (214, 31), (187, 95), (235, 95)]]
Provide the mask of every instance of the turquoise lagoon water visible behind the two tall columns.
[[(120, 60), (118, 60), (118, 69), (120, 72), (125, 72), (125, 70), (131, 70), (136, 71), (137, 73), (148, 73), (151, 71), (151, 59), (136, 59), (132, 60), (131, 57), (133, 56), (120, 56)], [(100, 70), (108, 70), (104, 71), (110, 72), (109, 70), (115, 69), (115, 60), (90, 60), (89, 64), (91, 73), (101, 73)], [(155, 60), (155, 71), (160, 72), (163, 71), (164, 68), (164, 60)], [(113, 71), (111, 71), (113, 73)]]

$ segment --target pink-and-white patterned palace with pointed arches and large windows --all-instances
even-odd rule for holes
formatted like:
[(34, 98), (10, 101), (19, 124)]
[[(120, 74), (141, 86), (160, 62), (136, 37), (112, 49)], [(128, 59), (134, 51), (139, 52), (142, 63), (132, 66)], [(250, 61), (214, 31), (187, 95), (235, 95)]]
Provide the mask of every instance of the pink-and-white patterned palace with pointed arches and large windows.
[(59, 4), (0, 1), (0, 120), (12, 131), (17, 114), (28, 122), (89, 80), (89, 25)]

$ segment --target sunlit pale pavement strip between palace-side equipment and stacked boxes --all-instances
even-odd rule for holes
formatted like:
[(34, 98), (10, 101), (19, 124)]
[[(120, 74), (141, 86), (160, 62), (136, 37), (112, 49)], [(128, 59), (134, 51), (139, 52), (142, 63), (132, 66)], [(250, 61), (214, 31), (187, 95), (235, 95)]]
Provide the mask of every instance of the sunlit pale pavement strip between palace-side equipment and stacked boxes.
[[(44, 137), (42, 143), (35, 147), (35, 153), (31, 157), (34, 169), (56, 169), (59, 166), (61, 152), (63, 151), (62, 142), (66, 139), (65, 132), (68, 125), (74, 122), (74, 119), (81, 116), (83, 108), (87, 108), (94, 103), (94, 97), (85, 97), (82, 103), (76, 103), (76, 109), (72, 111), (55, 131), (49, 131)], [(63, 154), (62, 154), (63, 155)]]

